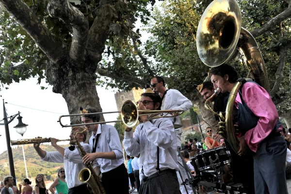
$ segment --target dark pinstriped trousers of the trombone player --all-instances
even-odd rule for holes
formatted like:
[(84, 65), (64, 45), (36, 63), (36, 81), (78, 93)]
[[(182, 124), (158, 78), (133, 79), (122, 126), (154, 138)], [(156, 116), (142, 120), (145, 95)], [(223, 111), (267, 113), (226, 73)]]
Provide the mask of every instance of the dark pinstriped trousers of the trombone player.
[(180, 194), (176, 170), (166, 169), (143, 178), (139, 194)]

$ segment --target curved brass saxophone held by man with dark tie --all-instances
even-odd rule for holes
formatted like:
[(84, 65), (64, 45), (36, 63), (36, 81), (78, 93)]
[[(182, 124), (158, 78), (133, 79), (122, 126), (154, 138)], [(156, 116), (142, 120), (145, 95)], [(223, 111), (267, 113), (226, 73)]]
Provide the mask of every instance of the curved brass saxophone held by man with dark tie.
[[(87, 128), (85, 128), (81, 132), (77, 132), (74, 135), (74, 142), (76, 144), (76, 147), (79, 151), (81, 158), (83, 158), (86, 155), (86, 151), (83, 148), (83, 146), (81, 146), (81, 144), (79, 143), (78, 139), (76, 138), (76, 135), (78, 133), (83, 133), (85, 131), (87, 131)], [(106, 194), (106, 192), (101, 184), (101, 181), (99, 179), (99, 176), (97, 176), (97, 174), (95, 173), (91, 162), (88, 164), (84, 164), (84, 165), (86, 167), (80, 171), (79, 176), (78, 176), (80, 182), (81, 183), (88, 183), (90, 188), (91, 188), (92, 194)]]

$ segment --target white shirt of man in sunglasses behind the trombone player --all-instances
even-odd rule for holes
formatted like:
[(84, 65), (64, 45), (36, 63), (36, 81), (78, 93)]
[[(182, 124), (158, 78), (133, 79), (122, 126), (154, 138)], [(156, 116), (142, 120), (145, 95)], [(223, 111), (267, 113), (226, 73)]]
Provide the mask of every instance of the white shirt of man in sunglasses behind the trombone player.
[[(162, 100), (161, 110), (184, 110), (187, 111), (191, 109), (193, 106), (191, 100), (187, 97), (184, 97), (178, 90), (170, 89), (167, 91), (164, 99)], [(172, 122), (174, 121), (174, 117), (168, 118)], [(179, 116), (176, 116), (175, 124), (180, 124)], [(176, 129), (176, 133), (180, 134), (183, 132), (182, 128)], [(178, 145), (180, 146), (180, 145)]]

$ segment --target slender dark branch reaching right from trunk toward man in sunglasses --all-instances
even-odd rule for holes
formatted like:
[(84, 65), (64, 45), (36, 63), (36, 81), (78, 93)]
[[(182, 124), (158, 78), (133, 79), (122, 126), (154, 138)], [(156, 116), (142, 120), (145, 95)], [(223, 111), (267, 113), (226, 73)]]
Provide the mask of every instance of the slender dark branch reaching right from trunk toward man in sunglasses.
[(101, 75), (101, 76), (106, 76), (106, 77), (117, 79), (117, 80), (122, 80), (122, 81), (128, 81), (128, 82), (135, 83), (140, 88), (144, 88), (146, 83), (147, 83), (146, 80), (141, 80), (141, 79), (138, 79), (138, 78), (136, 78), (134, 76), (129, 76), (129, 75), (126, 75), (126, 74), (112, 73), (112, 72), (107, 71), (107, 70), (102, 69), (102, 68), (97, 68), (97, 73), (99, 75)]

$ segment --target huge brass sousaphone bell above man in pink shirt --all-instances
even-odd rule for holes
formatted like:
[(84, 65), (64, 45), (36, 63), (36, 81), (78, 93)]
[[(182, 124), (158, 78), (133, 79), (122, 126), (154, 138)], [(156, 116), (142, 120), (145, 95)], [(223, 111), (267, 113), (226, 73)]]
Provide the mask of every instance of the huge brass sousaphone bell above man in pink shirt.
[(225, 63), (235, 50), (242, 15), (235, 0), (214, 0), (200, 18), (196, 46), (201, 61), (214, 67)]

